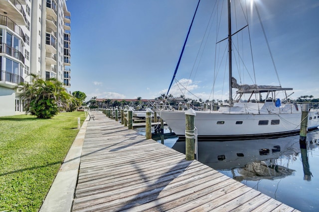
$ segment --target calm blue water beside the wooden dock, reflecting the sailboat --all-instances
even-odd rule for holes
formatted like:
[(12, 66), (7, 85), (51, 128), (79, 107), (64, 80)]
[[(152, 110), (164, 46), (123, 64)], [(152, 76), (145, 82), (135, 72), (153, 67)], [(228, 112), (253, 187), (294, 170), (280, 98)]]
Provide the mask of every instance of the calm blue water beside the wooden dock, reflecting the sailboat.
[[(140, 129), (145, 134), (145, 129)], [(159, 141), (160, 142), (160, 141)], [(185, 142), (165, 139), (182, 153)], [(319, 211), (319, 130), (307, 134), (243, 141), (200, 141), (198, 160), (261, 193), (297, 210)]]

